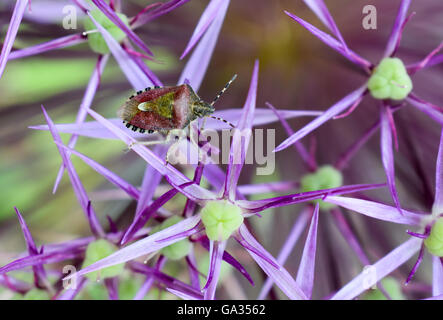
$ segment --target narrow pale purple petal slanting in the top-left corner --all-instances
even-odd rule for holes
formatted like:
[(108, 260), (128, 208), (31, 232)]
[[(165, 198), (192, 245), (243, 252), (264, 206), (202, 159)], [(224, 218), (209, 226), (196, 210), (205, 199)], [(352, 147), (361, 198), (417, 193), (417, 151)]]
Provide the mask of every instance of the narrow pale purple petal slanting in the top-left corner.
[(2, 51), (0, 53), (0, 79), (3, 75), (3, 71), (5, 71), (6, 62), (8, 61), (9, 53), (11, 52), (12, 45), (14, 44), (18, 27), (20, 26), (20, 22), (22, 21), (28, 2), (28, 0), (17, 0), (15, 3), (11, 22), (9, 23), (8, 31), (6, 31), (6, 37), (3, 41)]

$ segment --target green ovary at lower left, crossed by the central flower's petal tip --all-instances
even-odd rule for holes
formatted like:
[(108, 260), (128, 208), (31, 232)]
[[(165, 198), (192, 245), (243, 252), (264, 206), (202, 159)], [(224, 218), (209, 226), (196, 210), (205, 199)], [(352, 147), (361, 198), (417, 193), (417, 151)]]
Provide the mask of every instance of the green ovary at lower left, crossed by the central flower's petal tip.
[[(118, 248), (115, 245), (104, 239), (91, 242), (86, 248), (85, 260), (83, 261), (82, 269), (106, 258), (117, 251), (117, 249)], [(85, 274), (85, 277), (91, 280), (113, 278), (120, 275), (123, 272), (123, 269), (124, 263), (121, 263), (112, 267), (103, 268), (99, 271), (87, 273)]]

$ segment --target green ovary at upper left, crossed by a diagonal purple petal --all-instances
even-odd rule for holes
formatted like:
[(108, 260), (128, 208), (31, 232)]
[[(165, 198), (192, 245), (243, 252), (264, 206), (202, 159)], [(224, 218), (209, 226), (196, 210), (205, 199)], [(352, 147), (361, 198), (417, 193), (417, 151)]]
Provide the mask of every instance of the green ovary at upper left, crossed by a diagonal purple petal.
[[(97, 9), (91, 11), (90, 13), (92, 17), (95, 19), (95, 21), (97, 21), (103, 28), (105, 28), (106, 31), (108, 31), (117, 42), (121, 42), (126, 37), (126, 33), (124, 33), (111, 20), (109, 20), (109, 18), (105, 16), (103, 12)], [(120, 20), (123, 21), (123, 23), (129, 27), (128, 18), (122, 13), (117, 13), (117, 15), (120, 18)], [(94, 22), (92, 22), (92, 20), (89, 17), (85, 18), (85, 20), (83, 21), (83, 25), (86, 31), (97, 29)], [(91, 47), (91, 50), (96, 53), (99, 54), (109, 53), (108, 45), (106, 44), (106, 41), (101, 35), (101, 33), (98, 31), (88, 34), (88, 43), (89, 46)]]

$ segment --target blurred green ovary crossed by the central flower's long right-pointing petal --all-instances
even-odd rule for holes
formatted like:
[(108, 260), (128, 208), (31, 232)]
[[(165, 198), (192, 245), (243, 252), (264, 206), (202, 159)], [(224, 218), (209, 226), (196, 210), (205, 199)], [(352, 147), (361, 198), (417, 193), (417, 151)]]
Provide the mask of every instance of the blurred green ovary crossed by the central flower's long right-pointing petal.
[[(338, 188), (343, 184), (343, 176), (333, 166), (326, 165), (317, 169), (316, 172), (305, 175), (300, 181), (301, 192), (316, 191), (321, 189)], [(328, 210), (335, 207), (334, 204), (322, 200), (313, 200), (319, 203), (320, 209)]]

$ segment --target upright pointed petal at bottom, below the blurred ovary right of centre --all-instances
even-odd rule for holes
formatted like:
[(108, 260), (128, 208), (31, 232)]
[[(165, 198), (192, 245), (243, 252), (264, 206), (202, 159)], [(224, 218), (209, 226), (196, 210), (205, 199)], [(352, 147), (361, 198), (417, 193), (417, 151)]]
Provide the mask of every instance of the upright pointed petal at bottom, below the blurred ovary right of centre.
[(319, 204), (315, 206), (314, 213), (306, 238), (300, 266), (298, 267), (296, 282), (308, 299), (312, 297), (315, 274), (315, 254), (317, 252), (317, 227), (318, 227)]

